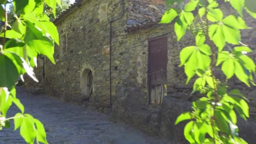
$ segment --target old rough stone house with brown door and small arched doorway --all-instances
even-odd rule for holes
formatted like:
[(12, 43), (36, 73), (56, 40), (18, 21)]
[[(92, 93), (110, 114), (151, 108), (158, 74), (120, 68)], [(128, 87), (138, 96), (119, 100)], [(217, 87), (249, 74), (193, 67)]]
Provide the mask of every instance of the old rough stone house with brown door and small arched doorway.
[[(177, 42), (173, 24), (158, 24), (164, 12), (165, 0), (76, 0), (54, 21), (60, 35), (56, 64), (40, 60), (37, 75), (43, 74), (45, 91), (112, 111), (113, 121), (150, 135), (180, 141), (184, 124), (173, 123), (194, 98), (178, 67), (179, 52), (195, 40), (188, 34)], [(245, 20), (253, 29), (243, 31), (244, 43), (255, 49), (256, 20)], [(248, 94), (255, 115), (255, 87), (248, 89), (235, 78), (230, 85)]]

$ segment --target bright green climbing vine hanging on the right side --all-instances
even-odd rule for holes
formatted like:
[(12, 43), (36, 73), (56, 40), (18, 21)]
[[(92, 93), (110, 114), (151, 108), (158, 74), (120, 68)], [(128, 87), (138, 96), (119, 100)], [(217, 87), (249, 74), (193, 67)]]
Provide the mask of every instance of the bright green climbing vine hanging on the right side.
[[(240, 30), (249, 29), (243, 20), (244, 11), (256, 18), (256, 1), (187, 1), (166, 0), (169, 9), (160, 23), (175, 19), (178, 41), (187, 31), (195, 35), (195, 45), (180, 52), (180, 67), (184, 66), (186, 83), (196, 77), (192, 93), (199, 91), (205, 96), (192, 102), (192, 112), (179, 115), (175, 124), (190, 120), (184, 128), (184, 136), (192, 144), (246, 144), (238, 135), (237, 114), (247, 120), (248, 99), (225, 82), (236, 76), (249, 87), (255, 85), (255, 64), (247, 56), (252, 50), (242, 43)], [(230, 3), (237, 14), (224, 17), (219, 3)], [(227, 43), (233, 46), (226, 46)], [(216, 78), (216, 67), (220, 65), (225, 81)]]

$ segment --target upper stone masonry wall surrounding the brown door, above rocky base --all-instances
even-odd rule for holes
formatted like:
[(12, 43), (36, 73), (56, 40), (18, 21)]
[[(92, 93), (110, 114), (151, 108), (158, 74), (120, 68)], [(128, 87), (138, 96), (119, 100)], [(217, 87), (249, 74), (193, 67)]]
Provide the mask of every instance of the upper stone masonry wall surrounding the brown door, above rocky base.
[[(229, 3), (222, 3), (220, 7), (224, 10), (224, 16), (227, 16), (230, 13), (236, 13)], [(248, 15), (248, 13), (244, 13), (244, 19), (248, 24), (248, 27), (252, 27), (252, 29), (242, 30), (242, 42), (248, 44), (249, 47), (253, 49), (253, 52), (250, 53), (249, 56), (253, 60), (256, 60), (256, 19), (253, 19)], [(195, 40), (192, 38), (192, 35), (188, 33), (179, 42), (177, 42), (176, 34), (173, 31), (173, 24), (158, 24), (151, 28), (144, 28), (136, 32), (131, 32), (127, 35), (127, 38), (123, 40), (123, 43), (128, 45), (127, 48), (131, 49), (131, 57), (129, 57), (129, 59), (123, 59), (122, 61), (127, 61), (131, 67), (133, 67), (129, 76), (132, 77), (132, 80), (136, 80), (140, 85), (142, 91), (145, 93), (145, 101), (147, 101), (147, 40), (161, 35), (167, 35), (169, 45), (167, 73), (168, 93), (190, 93), (193, 86), (193, 80), (191, 80), (188, 85), (185, 85), (187, 76), (184, 74), (184, 68), (178, 67), (180, 64), (179, 52), (181, 49), (186, 46), (195, 45)], [(125, 45), (123, 45), (123, 48)], [(133, 73), (133, 75), (131, 75), (131, 73)], [(222, 72), (218, 72), (219, 77), (221, 80), (224, 80), (224, 75), (221, 75), (220, 73)], [(237, 80), (236, 77), (230, 80), (228, 84), (232, 88), (240, 89), (240, 91), (248, 97), (250, 100), (250, 114), (252, 117), (255, 117), (256, 87), (252, 85), (251, 88), (248, 88)]]

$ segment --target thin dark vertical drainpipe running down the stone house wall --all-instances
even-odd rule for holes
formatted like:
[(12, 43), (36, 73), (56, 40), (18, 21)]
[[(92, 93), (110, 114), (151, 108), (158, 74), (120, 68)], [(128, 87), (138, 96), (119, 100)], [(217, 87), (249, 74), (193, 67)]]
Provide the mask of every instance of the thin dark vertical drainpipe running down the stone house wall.
[(124, 0), (120, 0), (120, 3), (123, 5), (123, 13), (122, 15), (115, 19), (115, 17), (111, 17), (109, 24), (110, 24), (110, 31), (109, 31), (109, 107), (110, 107), (110, 112), (112, 112), (112, 24), (118, 20), (123, 18), (125, 14), (125, 2)]

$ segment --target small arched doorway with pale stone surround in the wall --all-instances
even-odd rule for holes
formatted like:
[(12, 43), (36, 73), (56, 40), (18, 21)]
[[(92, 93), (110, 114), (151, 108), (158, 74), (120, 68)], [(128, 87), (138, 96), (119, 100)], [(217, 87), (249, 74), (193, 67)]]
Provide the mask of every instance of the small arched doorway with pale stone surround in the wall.
[(90, 97), (94, 91), (93, 76), (93, 67), (91, 67), (91, 65), (84, 64), (80, 72), (80, 87), (82, 90), (82, 94), (84, 94), (86, 97)]

